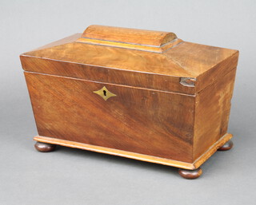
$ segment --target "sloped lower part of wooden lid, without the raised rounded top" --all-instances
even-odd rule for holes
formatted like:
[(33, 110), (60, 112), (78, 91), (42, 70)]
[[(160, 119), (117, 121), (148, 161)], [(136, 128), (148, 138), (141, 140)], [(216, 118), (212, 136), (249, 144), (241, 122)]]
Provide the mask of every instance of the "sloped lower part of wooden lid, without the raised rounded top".
[[(21, 61), (35, 73), (195, 94), (234, 69), (238, 51), (183, 42), (152, 53), (74, 41), (23, 53)], [(194, 78), (194, 87), (181, 85), (182, 77)]]

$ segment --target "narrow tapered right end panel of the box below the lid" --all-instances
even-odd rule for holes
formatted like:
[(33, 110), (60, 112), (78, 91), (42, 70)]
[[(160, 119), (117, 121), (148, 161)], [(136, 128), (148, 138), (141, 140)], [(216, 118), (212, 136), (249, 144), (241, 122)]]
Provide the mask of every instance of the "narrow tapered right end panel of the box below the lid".
[(227, 132), (235, 73), (232, 69), (196, 97), (194, 160)]

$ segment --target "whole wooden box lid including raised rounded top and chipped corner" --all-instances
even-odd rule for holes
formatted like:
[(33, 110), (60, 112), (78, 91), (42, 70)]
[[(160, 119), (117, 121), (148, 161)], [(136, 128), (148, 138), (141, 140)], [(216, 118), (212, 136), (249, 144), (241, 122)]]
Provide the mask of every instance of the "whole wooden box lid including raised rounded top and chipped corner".
[(238, 51), (174, 33), (89, 26), (84, 33), (21, 55), (27, 72), (195, 94), (238, 63)]

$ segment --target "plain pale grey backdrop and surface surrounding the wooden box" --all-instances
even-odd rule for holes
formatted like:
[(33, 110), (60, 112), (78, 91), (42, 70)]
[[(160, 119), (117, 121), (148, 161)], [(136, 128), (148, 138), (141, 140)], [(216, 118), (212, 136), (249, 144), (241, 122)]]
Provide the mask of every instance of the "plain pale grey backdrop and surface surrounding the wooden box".
[[(255, 1), (0, 2), (0, 204), (255, 204)], [(37, 134), (19, 54), (99, 24), (172, 31), (184, 41), (238, 49), (230, 115), (234, 149), (176, 168), (59, 148), (34, 150)]]

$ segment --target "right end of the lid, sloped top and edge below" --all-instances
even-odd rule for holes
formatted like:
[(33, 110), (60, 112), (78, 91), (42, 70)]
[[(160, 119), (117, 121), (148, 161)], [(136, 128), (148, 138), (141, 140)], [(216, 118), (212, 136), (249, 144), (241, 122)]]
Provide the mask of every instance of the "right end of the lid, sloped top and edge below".
[(238, 65), (238, 50), (183, 42), (166, 51), (172, 61), (193, 73), (195, 93), (218, 81)]

